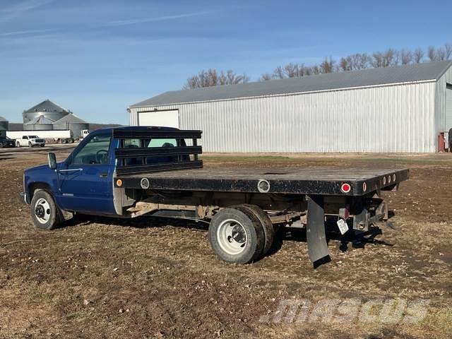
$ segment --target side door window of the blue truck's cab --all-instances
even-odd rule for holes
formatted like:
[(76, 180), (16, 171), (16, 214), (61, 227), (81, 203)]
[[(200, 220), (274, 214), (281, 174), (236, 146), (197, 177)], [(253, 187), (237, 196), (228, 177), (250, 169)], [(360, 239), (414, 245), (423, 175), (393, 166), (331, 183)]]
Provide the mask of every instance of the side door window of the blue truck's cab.
[(111, 133), (99, 134), (85, 143), (72, 157), (71, 165), (105, 165), (108, 162), (108, 150)]

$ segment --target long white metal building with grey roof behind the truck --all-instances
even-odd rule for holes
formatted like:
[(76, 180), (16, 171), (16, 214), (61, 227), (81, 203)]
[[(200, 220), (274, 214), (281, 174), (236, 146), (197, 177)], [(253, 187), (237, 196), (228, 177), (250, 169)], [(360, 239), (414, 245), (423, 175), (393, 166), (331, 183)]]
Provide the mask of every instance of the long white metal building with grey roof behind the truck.
[(203, 130), (205, 152), (436, 152), (452, 62), (177, 90), (129, 112), (132, 126)]

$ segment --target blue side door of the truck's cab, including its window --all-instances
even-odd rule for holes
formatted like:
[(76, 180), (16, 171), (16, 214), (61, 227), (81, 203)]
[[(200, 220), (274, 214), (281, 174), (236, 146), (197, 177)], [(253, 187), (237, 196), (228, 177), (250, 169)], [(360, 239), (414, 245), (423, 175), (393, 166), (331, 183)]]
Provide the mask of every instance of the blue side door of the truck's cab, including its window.
[(88, 136), (87, 142), (76, 148), (59, 170), (59, 198), (65, 210), (114, 214), (111, 139), (111, 132)]

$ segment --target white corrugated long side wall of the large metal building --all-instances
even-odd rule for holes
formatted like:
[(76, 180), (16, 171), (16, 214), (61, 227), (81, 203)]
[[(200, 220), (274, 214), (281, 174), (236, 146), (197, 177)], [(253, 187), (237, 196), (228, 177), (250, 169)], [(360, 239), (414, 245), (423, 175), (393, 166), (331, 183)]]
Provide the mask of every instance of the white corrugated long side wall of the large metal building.
[(389, 85), (184, 105), (181, 129), (205, 152), (435, 152), (435, 83)]

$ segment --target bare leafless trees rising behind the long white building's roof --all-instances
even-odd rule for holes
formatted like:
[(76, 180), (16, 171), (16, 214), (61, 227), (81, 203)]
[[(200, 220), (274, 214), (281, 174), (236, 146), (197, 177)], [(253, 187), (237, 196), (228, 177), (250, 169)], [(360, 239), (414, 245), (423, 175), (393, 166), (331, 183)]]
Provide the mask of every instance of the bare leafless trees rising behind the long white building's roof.
[[(421, 64), (424, 62), (444, 61), (452, 59), (452, 44), (444, 44), (442, 47), (430, 46), (426, 50), (417, 48), (392, 49), (372, 54), (357, 53), (347, 57), (341, 57), (335, 61), (331, 57), (325, 57), (320, 64), (297, 64), (290, 62), (285, 66), (276, 67), (273, 72), (263, 73), (258, 81), (269, 81), (273, 79), (298, 78), (323, 73), (334, 73), (341, 71), (358, 71), (379, 67), (391, 67), (407, 64)], [(184, 89), (203, 88), (217, 85), (234, 85), (237, 83), (248, 83), (246, 74), (229, 71), (217, 71), (215, 69), (202, 70), (195, 76), (187, 79)]]

